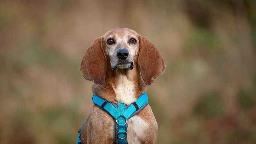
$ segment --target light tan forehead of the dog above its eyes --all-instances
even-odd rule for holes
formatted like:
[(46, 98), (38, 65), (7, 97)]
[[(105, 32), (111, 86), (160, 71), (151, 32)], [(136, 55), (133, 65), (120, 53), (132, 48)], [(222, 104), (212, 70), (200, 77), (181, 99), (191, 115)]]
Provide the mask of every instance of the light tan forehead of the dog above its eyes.
[(105, 35), (103, 35), (103, 37), (108, 37), (108, 36), (118, 36), (118, 37), (136, 36), (136, 37), (138, 37), (139, 34), (129, 28), (117, 28), (117, 29), (111, 29), (108, 32), (106, 32)]

